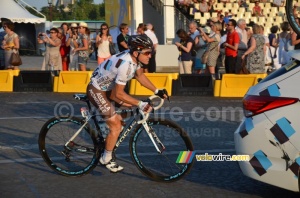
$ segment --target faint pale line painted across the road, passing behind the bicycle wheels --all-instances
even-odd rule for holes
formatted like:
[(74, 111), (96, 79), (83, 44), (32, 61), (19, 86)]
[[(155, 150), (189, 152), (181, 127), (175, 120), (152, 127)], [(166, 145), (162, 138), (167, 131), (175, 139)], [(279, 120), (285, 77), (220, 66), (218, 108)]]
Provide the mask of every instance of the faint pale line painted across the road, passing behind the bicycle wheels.
[[(235, 152), (234, 149), (211, 149), (211, 150), (195, 150), (196, 154), (201, 153), (228, 153), (228, 152)], [(180, 151), (171, 151), (169, 154), (178, 155)], [(157, 153), (144, 153), (143, 156), (153, 156), (157, 155)], [(130, 153), (124, 154), (117, 154), (118, 157), (130, 157)], [(60, 157), (59, 157), (60, 158)], [(59, 159), (57, 158), (57, 159)], [(61, 157), (63, 159), (63, 157)], [(5, 159), (0, 160), (0, 164), (12, 164), (12, 163), (30, 163), (30, 162), (40, 162), (43, 161), (41, 157), (34, 157), (34, 158), (17, 158), (17, 159)]]

